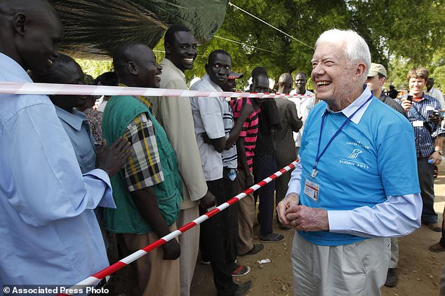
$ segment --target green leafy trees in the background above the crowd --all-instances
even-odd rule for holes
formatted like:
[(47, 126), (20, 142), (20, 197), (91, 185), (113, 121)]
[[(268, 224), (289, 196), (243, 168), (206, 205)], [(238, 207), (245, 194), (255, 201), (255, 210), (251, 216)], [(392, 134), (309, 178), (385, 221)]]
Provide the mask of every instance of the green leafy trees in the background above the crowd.
[[(213, 38), (199, 46), (194, 69), (187, 81), (204, 75), (208, 54), (222, 48), (232, 55), (234, 72), (244, 73), (247, 85), (253, 68), (263, 66), (272, 79), (284, 72), (311, 72), (314, 43), (327, 29), (354, 29), (364, 37), (373, 62), (385, 65), (388, 81), (404, 88), (411, 67), (426, 67), (445, 88), (445, 5), (441, 0), (232, 0), (232, 3), (269, 22), (228, 6), (225, 20)], [(261, 48), (261, 49), (259, 49)], [(164, 40), (154, 48), (158, 61), (164, 58)], [(109, 62), (82, 61), (87, 73), (97, 76), (109, 70)], [(311, 88), (311, 85), (308, 86)], [(241, 89), (241, 88), (240, 88)]]

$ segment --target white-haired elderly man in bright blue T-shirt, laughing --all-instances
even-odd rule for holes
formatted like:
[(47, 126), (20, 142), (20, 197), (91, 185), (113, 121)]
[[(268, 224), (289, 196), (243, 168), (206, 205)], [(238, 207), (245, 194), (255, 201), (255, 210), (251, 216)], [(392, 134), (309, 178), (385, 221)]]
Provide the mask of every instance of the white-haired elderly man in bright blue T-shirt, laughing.
[(390, 237), (420, 227), (422, 200), (413, 128), (364, 84), (369, 48), (353, 31), (319, 36), (311, 110), (286, 198), (296, 227), (295, 295), (380, 295)]

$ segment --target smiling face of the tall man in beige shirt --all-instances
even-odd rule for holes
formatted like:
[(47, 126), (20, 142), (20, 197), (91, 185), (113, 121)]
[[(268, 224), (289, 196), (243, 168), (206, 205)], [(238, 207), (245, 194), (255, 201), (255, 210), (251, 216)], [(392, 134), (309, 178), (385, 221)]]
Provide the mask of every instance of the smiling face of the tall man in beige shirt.
[(166, 43), (166, 58), (182, 72), (193, 69), (194, 59), (197, 58), (197, 39), (190, 32), (176, 32), (173, 44)]

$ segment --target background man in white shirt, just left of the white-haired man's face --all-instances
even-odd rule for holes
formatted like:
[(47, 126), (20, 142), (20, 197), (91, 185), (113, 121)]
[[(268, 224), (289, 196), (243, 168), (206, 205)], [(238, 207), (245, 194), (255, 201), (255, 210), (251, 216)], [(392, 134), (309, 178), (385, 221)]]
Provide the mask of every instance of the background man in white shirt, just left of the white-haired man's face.
[(298, 72), (295, 75), (295, 89), (291, 91), (291, 95), (302, 95), (301, 97), (289, 97), (288, 99), (297, 105), (298, 118), (303, 121), (303, 127), (298, 130), (298, 133), (293, 133), (293, 140), (295, 140), (295, 147), (300, 149), (301, 137), (305, 128), (306, 119), (309, 115), (310, 109), (314, 107), (315, 95), (312, 91), (306, 89), (307, 78), (303, 72)]

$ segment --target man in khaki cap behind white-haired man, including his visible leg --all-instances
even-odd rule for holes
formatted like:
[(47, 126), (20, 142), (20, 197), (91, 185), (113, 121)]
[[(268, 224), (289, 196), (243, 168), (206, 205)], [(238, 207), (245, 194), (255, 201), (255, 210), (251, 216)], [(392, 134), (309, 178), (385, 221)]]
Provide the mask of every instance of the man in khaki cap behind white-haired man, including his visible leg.
[[(368, 77), (366, 78), (366, 83), (378, 100), (384, 102), (386, 105), (392, 107), (392, 109), (397, 110), (397, 112), (405, 116), (404, 109), (395, 102), (392, 97), (388, 97), (383, 93), (382, 86), (386, 80), (386, 69), (383, 65), (371, 63), (371, 68), (369, 68)], [(387, 271), (385, 285), (387, 287), (395, 287), (399, 278), (397, 277), (397, 262), (399, 262), (399, 240), (398, 238), (391, 238), (391, 261), (390, 267)]]

